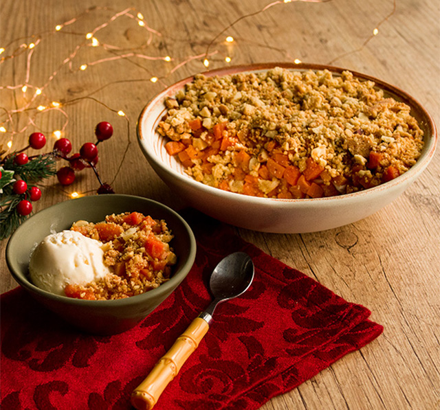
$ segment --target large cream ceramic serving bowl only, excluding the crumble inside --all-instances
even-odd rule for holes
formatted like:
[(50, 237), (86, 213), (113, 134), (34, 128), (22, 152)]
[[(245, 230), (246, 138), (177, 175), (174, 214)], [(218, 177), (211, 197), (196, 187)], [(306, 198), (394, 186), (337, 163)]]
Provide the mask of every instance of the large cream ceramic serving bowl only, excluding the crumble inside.
[[(225, 76), (239, 72), (264, 71), (274, 67), (300, 71), (328, 69), (333, 76), (338, 76), (344, 71), (341, 68), (323, 65), (271, 63), (229, 67), (204, 74)], [(278, 199), (225, 192), (195, 181), (184, 172), (183, 166), (176, 159), (177, 156), (170, 157), (167, 154), (164, 148), (166, 138), (156, 132), (157, 124), (166, 113), (164, 100), (173, 97), (179, 89), (191, 82), (193, 77), (173, 84), (148, 102), (137, 124), (140, 148), (155, 172), (173, 192), (185, 198), (192, 207), (201, 212), (237, 227), (294, 234), (322, 231), (353, 223), (391, 203), (420, 176), (434, 155), (437, 130), (429, 113), (410, 95), (377, 78), (351, 72), (360, 80), (374, 81), (378, 88), (384, 90), (386, 96), (408, 104), (411, 114), (418, 120), (424, 133), (423, 152), (415, 166), (396, 179), (377, 187), (327, 198)]]

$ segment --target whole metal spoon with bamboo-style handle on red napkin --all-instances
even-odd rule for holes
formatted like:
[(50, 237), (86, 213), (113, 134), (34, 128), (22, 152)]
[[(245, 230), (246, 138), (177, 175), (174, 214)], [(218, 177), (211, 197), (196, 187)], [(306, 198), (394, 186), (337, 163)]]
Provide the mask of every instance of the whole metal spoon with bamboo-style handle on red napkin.
[(208, 332), (209, 323), (217, 305), (244, 293), (254, 279), (254, 264), (243, 252), (231, 253), (217, 264), (210, 277), (210, 290), (214, 300), (194, 319), (190, 326), (171, 346), (146, 379), (133, 391), (131, 404), (138, 410), (152, 409), (186, 359), (197, 349)]

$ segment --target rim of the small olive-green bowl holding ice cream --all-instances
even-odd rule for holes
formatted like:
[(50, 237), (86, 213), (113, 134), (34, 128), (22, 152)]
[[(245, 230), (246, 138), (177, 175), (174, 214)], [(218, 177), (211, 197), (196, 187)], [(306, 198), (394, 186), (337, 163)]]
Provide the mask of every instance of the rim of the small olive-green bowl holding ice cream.
[[(157, 288), (151, 289), (150, 291), (147, 291), (147, 292), (142, 293), (140, 295), (125, 297), (123, 299), (85, 300), (85, 299), (76, 299), (76, 298), (72, 298), (72, 297), (67, 297), (67, 296), (63, 296), (63, 295), (56, 295), (56, 294), (51, 293), (49, 291), (45, 291), (44, 289), (41, 289), (38, 286), (35, 286), (34, 284), (32, 284), (32, 282), (30, 282), (30, 280), (23, 280), (21, 275), (18, 275), (15, 272), (15, 270), (13, 269), (13, 266), (12, 266), (12, 262), (11, 262), (12, 251), (10, 250), (10, 247), (11, 247), (11, 244), (13, 243), (14, 237), (17, 236), (17, 232), (19, 232), (23, 229), (26, 229), (26, 227), (28, 225), (28, 221), (30, 221), (33, 216), (38, 214), (40, 217), (42, 217), (45, 214), (51, 214), (51, 212), (54, 210), (54, 208), (63, 207), (63, 204), (66, 204), (69, 201), (78, 201), (78, 202), (81, 202), (81, 201), (91, 201), (91, 202), (104, 201), (104, 199), (109, 196), (111, 196), (111, 198), (126, 199), (127, 201), (135, 198), (136, 200), (146, 201), (146, 203), (153, 203), (154, 205), (157, 205), (158, 207), (164, 209), (165, 212), (169, 212), (170, 214), (173, 214), (173, 216), (175, 216), (175, 218), (177, 218), (177, 220), (179, 220), (179, 222), (184, 226), (184, 228), (188, 234), (189, 241), (190, 241), (190, 246), (189, 246), (190, 252), (188, 254), (188, 257), (186, 258), (186, 262), (184, 263), (184, 265), (181, 266), (181, 268), (180, 268), (179, 272), (177, 272), (177, 274), (170, 277), (170, 280), (168, 280), (167, 282), (164, 282), (163, 284), (161, 284)], [(98, 198), (102, 198), (102, 199), (98, 199)], [(74, 221), (72, 221), (72, 222), (74, 222)], [(192, 265), (194, 264), (196, 251), (197, 251), (197, 244), (196, 244), (195, 236), (194, 236), (194, 233), (192, 232), (192, 229), (190, 228), (190, 226), (188, 225), (186, 220), (184, 220), (184, 218), (182, 218), (177, 212), (175, 212), (173, 209), (171, 209), (167, 205), (164, 205), (163, 203), (160, 203), (158, 201), (154, 201), (153, 199), (150, 199), (150, 198), (144, 198), (142, 196), (134, 196), (134, 195), (128, 195), (128, 194), (101, 194), (101, 195), (82, 196), (80, 198), (74, 198), (74, 199), (69, 199), (67, 201), (58, 202), (54, 205), (51, 205), (50, 207), (46, 207), (45, 209), (41, 209), (41, 211), (36, 212), (36, 214), (32, 215), (30, 218), (25, 220), (14, 231), (14, 233), (10, 236), (10, 238), (8, 240), (8, 244), (6, 245), (6, 249), (5, 249), (5, 258), (6, 258), (6, 264), (8, 265), (8, 269), (9, 269), (12, 277), (14, 278), (14, 280), (16, 280), (21, 286), (23, 286), (23, 288), (32, 292), (32, 294), (34, 294), (34, 295), (39, 295), (40, 297), (43, 296), (43, 297), (46, 297), (47, 299), (59, 301), (59, 302), (62, 302), (63, 304), (67, 304), (67, 305), (81, 305), (84, 307), (90, 306), (90, 307), (95, 307), (95, 308), (96, 307), (122, 308), (125, 306), (142, 304), (143, 299), (149, 299), (150, 297), (161, 297), (163, 295), (166, 295), (166, 293), (168, 293), (170, 291), (170, 288), (173, 288), (175, 286), (175, 282), (178, 282), (178, 283), (181, 282), (182, 280), (184, 280), (186, 275), (188, 275)]]

